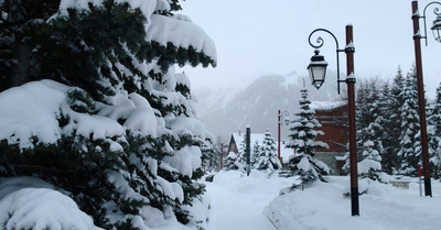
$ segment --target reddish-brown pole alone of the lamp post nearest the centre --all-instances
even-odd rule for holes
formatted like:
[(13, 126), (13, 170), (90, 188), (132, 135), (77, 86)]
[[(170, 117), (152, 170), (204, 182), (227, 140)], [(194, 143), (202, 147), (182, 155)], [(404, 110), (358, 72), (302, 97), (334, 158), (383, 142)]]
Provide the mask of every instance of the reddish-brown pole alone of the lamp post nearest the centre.
[(351, 166), (351, 204), (352, 216), (359, 216), (357, 146), (355, 127), (355, 76), (354, 76), (354, 39), (352, 25), (346, 25), (346, 67), (347, 67), (347, 114), (349, 120), (349, 166)]

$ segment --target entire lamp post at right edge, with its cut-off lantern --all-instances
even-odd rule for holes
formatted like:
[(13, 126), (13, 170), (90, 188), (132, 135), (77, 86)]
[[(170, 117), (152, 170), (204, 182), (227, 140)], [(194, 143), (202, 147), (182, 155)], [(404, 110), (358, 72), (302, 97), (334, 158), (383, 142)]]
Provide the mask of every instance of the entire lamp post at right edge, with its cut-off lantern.
[[(426, 122), (426, 101), (424, 101), (424, 84), (422, 80), (422, 61), (421, 61), (421, 39), (426, 40), (426, 45), (428, 45), (427, 40), (427, 25), (426, 25), (426, 10), (431, 4), (440, 4), (440, 2), (432, 1), (426, 6), (423, 10), (423, 15), (420, 17), (418, 11), (418, 1), (412, 1), (412, 22), (413, 22), (413, 44), (415, 44), (415, 59), (417, 68), (417, 84), (418, 84), (418, 107), (420, 114), (420, 133), (421, 133), (421, 152), (422, 152), (422, 169), (424, 175), (424, 191), (426, 196), (432, 196), (432, 186), (430, 182), (430, 163), (429, 163), (429, 147), (428, 147), (428, 133), (427, 133), (427, 122)], [(441, 42), (440, 31), (441, 31), (441, 13), (439, 9), (435, 8), (433, 13), (437, 19), (433, 21), (431, 28), (434, 40)], [(424, 35), (420, 33), (419, 19), (422, 18), (424, 22)]]

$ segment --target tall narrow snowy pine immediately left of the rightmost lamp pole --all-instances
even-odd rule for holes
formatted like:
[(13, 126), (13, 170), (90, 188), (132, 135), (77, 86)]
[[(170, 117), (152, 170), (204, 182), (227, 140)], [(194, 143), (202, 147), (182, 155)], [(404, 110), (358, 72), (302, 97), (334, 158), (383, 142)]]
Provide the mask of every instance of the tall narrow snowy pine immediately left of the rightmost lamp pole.
[(401, 131), (398, 151), (401, 164), (398, 171), (401, 175), (418, 176), (418, 164), (421, 158), (420, 138), (417, 136), (420, 130), (418, 116), (418, 92), (416, 68), (413, 67), (405, 78), (405, 87), (401, 96), (404, 103), (400, 108)]

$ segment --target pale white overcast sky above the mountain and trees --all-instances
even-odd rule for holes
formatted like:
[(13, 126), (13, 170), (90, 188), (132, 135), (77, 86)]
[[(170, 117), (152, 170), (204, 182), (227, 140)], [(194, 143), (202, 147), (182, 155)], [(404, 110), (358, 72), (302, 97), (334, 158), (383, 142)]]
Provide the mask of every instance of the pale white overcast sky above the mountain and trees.
[[(420, 13), (430, 0), (419, 1)], [(406, 74), (415, 63), (411, 0), (186, 0), (183, 14), (202, 26), (217, 48), (216, 68), (185, 68), (193, 89), (248, 85), (268, 74), (306, 76), (313, 55), (308, 43), (319, 28), (345, 46), (345, 26), (354, 26), (355, 75), (391, 79), (398, 65)], [(429, 46), (422, 45), (424, 86), (430, 98), (441, 81), (441, 44), (430, 31), (433, 8), (427, 10)], [(423, 30), (422, 19), (420, 20)], [(335, 42), (327, 34), (321, 48), (329, 69), (336, 69)], [(438, 57), (438, 58), (437, 58)], [(343, 76), (344, 53), (340, 54)], [(336, 84), (327, 79), (325, 84)]]

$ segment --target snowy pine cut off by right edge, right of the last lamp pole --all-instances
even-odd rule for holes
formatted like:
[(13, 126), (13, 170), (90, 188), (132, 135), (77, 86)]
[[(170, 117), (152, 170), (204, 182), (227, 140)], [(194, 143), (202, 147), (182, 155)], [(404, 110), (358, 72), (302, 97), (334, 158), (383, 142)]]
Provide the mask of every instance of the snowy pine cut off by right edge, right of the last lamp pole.
[(430, 169), (433, 178), (441, 177), (441, 84), (437, 88), (428, 118)]

